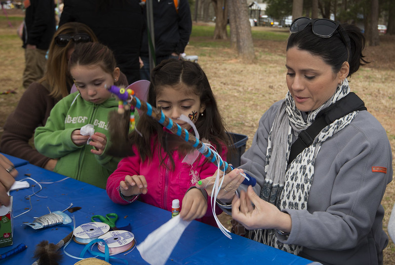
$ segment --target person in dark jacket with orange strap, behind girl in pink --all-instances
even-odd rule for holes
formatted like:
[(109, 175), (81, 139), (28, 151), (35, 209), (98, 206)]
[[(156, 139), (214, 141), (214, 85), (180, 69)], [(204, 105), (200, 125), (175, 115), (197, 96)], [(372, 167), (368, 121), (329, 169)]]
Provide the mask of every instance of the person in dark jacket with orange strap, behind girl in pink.
[[(152, 1), (152, 9), (156, 65), (165, 59), (180, 59), (192, 32), (192, 18), (188, 0)], [(147, 21), (147, 8), (144, 8), (144, 21)], [(140, 69), (141, 79), (150, 80), (150, 69), (154, 66), (150, 68), (147, 29), (143, 30), (140, 58), (143, 63)]]

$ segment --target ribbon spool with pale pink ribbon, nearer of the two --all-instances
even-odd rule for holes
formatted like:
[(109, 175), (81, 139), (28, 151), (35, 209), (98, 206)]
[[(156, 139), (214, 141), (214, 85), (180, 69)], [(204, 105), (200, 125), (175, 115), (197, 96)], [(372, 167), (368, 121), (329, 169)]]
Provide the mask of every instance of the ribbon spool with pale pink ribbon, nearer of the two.
[[(103, 239), (106, 242), (110, 250), (110, 255), (128, 251), (136, 245), (134, 234), (126, 230), (110, 231), (104, 235), (99, 236), (99, 239)], [(104, 253), (104, 243), (98, 242), (97, 244), (97, 248)]]

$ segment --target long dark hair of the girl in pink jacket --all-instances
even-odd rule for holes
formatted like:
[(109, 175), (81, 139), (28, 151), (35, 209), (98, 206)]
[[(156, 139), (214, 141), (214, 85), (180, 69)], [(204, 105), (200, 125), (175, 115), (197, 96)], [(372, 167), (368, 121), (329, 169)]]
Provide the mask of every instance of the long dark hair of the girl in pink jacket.
[[(158, 93), (164, 86), (178, 87), (179, 84), (192, 89), (191, 92), (199, 96), (200, 104), (205, 105), (203, 115), (199, 116), (195, 123), (200, 139), (207, 139), (218, 153), (222, 152), (223, 147), (229, 149), (232, 143), (226, 133), (225, 123), (219, 113), (207, 76), (197, 63), (177, 59), (162, 61), (152, 70), (147, 102), (156, 106)], [(162, 125), (151, 117), (142, 115), (137, 123), (137, 130), (130, 134), (130, 140), (132, 143), (138, 143), (136, 147), (142, 160), (152, 157), (151, 141), (154, 141), (154, 145), (161, 145), (174, 164), (170, 155), (172, 150), (167, 148), (165, 134)]]

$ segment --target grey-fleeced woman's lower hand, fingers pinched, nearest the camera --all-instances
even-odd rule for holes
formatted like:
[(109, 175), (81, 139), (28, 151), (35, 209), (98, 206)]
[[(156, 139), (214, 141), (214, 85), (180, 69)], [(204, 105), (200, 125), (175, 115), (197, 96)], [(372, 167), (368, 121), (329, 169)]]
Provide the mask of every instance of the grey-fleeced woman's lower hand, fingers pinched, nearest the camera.
[(248, 187), (247, 192), (240, 191), (240, 198), (235, 196), (233, 199), (232, 218), (250, 230), (279, 229), (289, 232), (292, 226), (290, 215), (261, 199), (251, 186)]

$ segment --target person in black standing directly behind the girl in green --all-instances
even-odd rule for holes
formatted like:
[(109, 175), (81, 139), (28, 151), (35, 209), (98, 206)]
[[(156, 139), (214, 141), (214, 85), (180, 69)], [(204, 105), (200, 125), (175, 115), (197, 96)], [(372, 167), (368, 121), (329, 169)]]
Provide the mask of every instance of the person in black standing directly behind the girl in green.
[(140, 80), (143, 11), (139, 0), (64, 0), (59, 26), (83, 23), (114, 53), (129, 84)]

